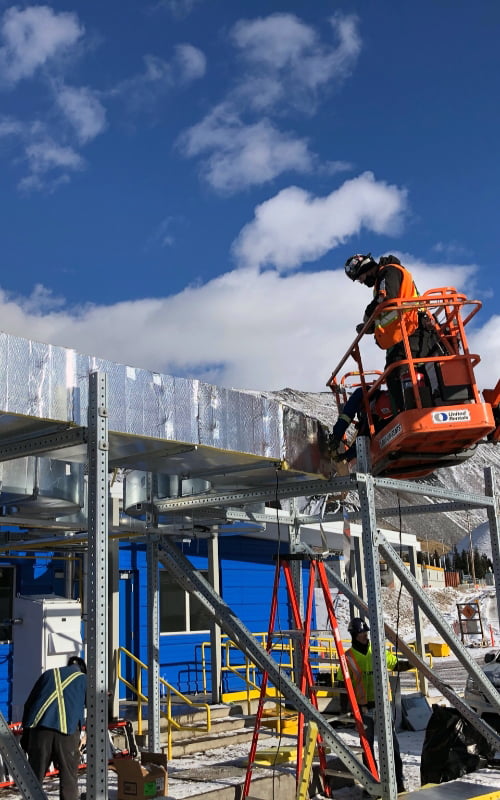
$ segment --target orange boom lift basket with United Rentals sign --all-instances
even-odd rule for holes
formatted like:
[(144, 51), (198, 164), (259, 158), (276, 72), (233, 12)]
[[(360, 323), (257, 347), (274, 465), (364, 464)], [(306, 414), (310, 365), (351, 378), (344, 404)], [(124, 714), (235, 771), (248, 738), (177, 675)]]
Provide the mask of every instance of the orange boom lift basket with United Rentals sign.
[[(441, 353), (430, 358), (413, 358), (402, 324), (405, 359), (390, 364), (384, 372), (363, 368), (360, 343), (375, 317), (391, 310), (400, 319), (417, 306), (421, 324), (434, 329)], [(396, 299), (379, 305), (332, 373), (330, 387), (340, 410), (350, 390), (361, 386), (363, 413), (368, 421), (374, 475), (416, 478), (438, 467), (460, 464), (473, 455), (482, 441), (500, 439), (500, 380), (481, 398), (474, 377), (480, 357), (469, 352), (466, 325), (481, 308), (452, 287), (430, 289), (418, 300)], [(340, 376), (348, 359), (356, 372)], [(387, 388), (387, 377), (399, 369), (404, 410), (374, 424), (372, 406), (379, 390)], [(340, 377), (339, 377), (340, 376)]]

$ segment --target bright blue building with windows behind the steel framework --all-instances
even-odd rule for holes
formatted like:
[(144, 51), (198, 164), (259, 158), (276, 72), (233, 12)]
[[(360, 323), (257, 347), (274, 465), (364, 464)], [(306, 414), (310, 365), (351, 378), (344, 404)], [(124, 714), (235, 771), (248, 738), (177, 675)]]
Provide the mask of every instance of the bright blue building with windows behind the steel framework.
[[(219, 540), (219, 592), (254, 633), (265, 633), (268, 629), (277, 546), (276, 541), (244, 536), (221, 537)], [(207, 573), (207, 539), (186, 540), (179, 543), (179, 547), (197, 570)], [(282, 544), (281, 552), (284, 552)], [(16, 596), (64, 597), (70, 592), (73, 599), (83, 599), (84, 584), (82, 554), (22, 552), (14, 556), (11, 552), (0, 559), (0, 711), (9, 721), (17, 721), (11, 718), (12, 676), (16, 663), (13, 625), (22, 624), (14, 619)], [(159, 585), (160, 676), (183, 693), (210, 692), (210, 650), (207, 644), (203, 646), (210, 640), (209, 616), (196, 598), (185, 592), (161, 566)], [(144, 544), (124, 541), (120, 545), (118, 616), (120, 647), (147, 663)], [(278, 592), (278, 619), (282, 627), (290, 628), (283, 581)], [(135, 683), (136, 668), (132, 660), (122, 658), (122, 672)], [(223, 691), (242, 688), (243, 684), (236, 677), (224, 673)], [(123, 684), (120, 684), (119, 692), (121, 698), (126, 696)]]

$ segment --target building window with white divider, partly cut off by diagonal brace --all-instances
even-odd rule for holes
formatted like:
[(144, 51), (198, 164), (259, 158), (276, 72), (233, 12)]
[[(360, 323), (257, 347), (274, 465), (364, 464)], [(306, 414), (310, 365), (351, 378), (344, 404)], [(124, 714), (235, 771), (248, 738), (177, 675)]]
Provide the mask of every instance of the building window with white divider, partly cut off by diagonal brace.
[[(199, 570), (208, 580), (207, 570)], [(160, 632), (195, 633), (208, 631), (210, 615), (166, 570), (160, 570)]]

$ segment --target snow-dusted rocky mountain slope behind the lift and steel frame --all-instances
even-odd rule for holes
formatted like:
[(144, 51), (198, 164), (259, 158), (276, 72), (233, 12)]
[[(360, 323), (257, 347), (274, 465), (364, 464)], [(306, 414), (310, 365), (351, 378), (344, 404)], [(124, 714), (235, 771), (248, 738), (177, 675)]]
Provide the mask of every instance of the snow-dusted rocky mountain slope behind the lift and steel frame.
[[(331, 392), (301, 392), (295, 389), (282, 389), (275, 392), (261, 392), (266, 397), (279, 400), (286, 405), (296, 408), (304, 414), (318, 419), (329, 429), (332, 428), (337, 418), (335, 400)], [(427, 478), (419, 479), (419, 483), (428, 483), (432, 486), (443, 487), (446, 489), (467, 492), (471, 494), (484, 494), (484, 469), (492, 467), (494, 472), (500, 476), (500, 447), (491, 444), (480, 444), (476, 448), (474, 455), (463, 464), (457, 467), (446, 467), (437, 470)], [(348, 501), (355, 505), (357, 495), (353, 493)], [(402, 493), (399, 495), (401, 506), (423, 505), (434, 503), (431, 497), (422, 495), (412, 495)], [(394, 492), (376, 492), (377, 519), (385, 528), (399, 529), (399, 522), (396, 517), (384, 519), (383, 509), (398, 505), (398, 498)], [(443, 544), (454, 545), (464, 536), (468, 536), (469, 530), (473, 531), (477, 526), (482, 525), (487, 519), (485, 509), (471, 509), (468, 512), (440, 511), (436, 514), (426, 513), (422, 515), (403, 515), (402, 528), (405, 531), (415, 534), (424, 539), (442, 541)], [(487, 526), (486, 526), (487, 527)], [(485, 552), (481, 550), (481, 552)]]

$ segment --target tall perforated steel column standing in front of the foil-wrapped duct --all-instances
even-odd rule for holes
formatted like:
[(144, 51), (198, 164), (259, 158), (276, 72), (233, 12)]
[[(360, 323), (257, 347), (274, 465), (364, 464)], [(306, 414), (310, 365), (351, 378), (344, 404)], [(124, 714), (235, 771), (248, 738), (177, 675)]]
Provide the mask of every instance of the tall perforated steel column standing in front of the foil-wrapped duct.
[(108, 797), (108, 412), (106, 375), (89, 377), (87, 797)]

